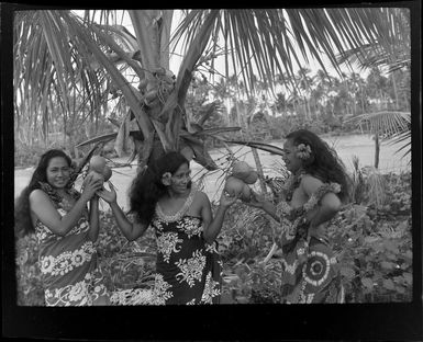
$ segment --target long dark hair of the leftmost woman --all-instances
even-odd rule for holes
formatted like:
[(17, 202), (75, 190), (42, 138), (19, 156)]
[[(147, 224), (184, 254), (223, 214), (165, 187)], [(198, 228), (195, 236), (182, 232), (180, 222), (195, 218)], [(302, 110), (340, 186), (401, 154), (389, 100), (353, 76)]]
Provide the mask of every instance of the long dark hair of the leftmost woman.
[(18, 236), (25, 236), (34, 232), (34, 226), (31, 220), (30, 194), (35, 189), (41, 189), (41, 183), (47, 183), (47, 168), (53, 158), (62, 157), (68, 166), (71, 166), (71, 159), (63, 150), (51, 149), (41, 156), (38, 164), (32, 174), (30, 184), (22, 190), (21, 195), (14, 204), (14, 228)]

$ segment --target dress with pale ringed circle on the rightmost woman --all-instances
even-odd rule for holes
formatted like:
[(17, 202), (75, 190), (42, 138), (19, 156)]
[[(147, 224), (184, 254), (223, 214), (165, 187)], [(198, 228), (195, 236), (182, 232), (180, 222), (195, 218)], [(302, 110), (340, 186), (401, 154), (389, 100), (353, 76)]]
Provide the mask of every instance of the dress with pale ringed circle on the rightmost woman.
[(291, 207), (286, 201), (277, 205), (282, 247), (282, 303), (343, 303), (339, 264), (326, 237), (326, 227), (335, 219), (311, 231), (305, 218), (326, 193), (338, 193), (339, 190), (337, 183), (324, 183), (299, 208)]

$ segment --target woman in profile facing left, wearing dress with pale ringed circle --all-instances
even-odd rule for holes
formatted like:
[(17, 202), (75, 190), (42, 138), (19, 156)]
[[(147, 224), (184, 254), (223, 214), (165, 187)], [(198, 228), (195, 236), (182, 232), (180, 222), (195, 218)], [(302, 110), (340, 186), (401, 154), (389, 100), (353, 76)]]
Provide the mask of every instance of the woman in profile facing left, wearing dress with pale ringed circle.
[(290, 133), (283, 150), (291, 174), (277, 205), (256, 194), (251, 201), (279, 225), (282, 303), (342, 303), (339, 264), (327, 227), (348, 200), (348, 176), (336, 152), (307, 129)]

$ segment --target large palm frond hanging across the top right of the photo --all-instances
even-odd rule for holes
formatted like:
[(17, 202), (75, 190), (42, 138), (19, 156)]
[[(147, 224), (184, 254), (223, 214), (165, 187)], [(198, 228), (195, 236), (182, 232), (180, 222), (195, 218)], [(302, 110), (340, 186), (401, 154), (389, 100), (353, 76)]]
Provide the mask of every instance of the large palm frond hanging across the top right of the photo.
[[(209, 13), (188, 11), (172, 36), (175, 46), (191, 46)], [(404, 46), (409, 38), (404, 18), (407, 10), (393, 8), (221, 10), (210, 44), (223, 37), (235, 75), (242, 75), (249, 91), (255, 87), (255, 69), (264, 82), (276, 73), (293, 77), (293, 64), (301, 66), (302, 58), (314, 58), (325, 70), (321, 56), (326, 54), (341, 72), (336, 55), (359, 52), (365, 44), (378, 44), (386, 52)], [(225, 65), (230, 65), (227, 59)]]

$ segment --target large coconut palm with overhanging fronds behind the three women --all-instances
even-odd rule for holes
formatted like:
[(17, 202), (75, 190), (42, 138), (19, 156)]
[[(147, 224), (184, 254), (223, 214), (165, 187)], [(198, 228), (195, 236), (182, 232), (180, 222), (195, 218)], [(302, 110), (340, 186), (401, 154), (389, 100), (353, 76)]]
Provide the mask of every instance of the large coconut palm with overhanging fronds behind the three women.
[[(196, 161), (214, 169), (216, 166), (204, 148), (204, 139), (211, 132), (193, 127), (185, 112), (193, 71), (207, 52), (213, 56), (223, 44), (224, 50), (231, 53), (225, 55), (226, 67), (231, 62), (235, 75), (242, 76), (246, 91), (252, 92), (254, 70), (269, 87), (272, 84), (266, 80), (272, 80), (276, 73), (294, 75), (293, 64), (300, 64), (294, 46), (299, 46), (307, 59), (316, 59), (323, 69), (321, 55), (326, 54), (338, 70), (336, 50), (343, 55), (350, 49), (360, 50), (369, 43), (388, 49), (397, 38), (402, 38), (392, 34), (393, 26), (386, 23), (400, 15), (390, 8), (182, 12), (172, 36), (172, 10), (127, 11), (135, 35), (112, 20), (118, 16), (115, 11), (86, 11), (84, 16), (65, 10), (16, 12), (14, 87), (20, 93), (16, 104), (26, 106), (21, 111), (31, 106), (43, 111), (48, 100), (40, 99), (53, 99), (55, 94), (63, 114), (68, 115), (68, 94), (81, 94), (85, 90), (84, 99), (90, 99), (89, 109), (94, 111), (101, 103), (93, 99), (102, 99), (100, 94), (109, 82), (129, 106), (120, 129), (126, 127), (127, 119), (138, 127), (136, 134), (125, 136), (136, 142), (140, 166), (157, 156), (157, 149), (180, 150), (189, 146)], [(100, 18), (98, 23), (94, 18)], [(178, 44), (182, 46), (183, 59), (172, 77), (170, 46)], [(125, 70), (133, 75), (134, 83)], [(22, 99), (30, 101), (20, 102)], [(157, 139), (160, 144), (155, 142)]]

